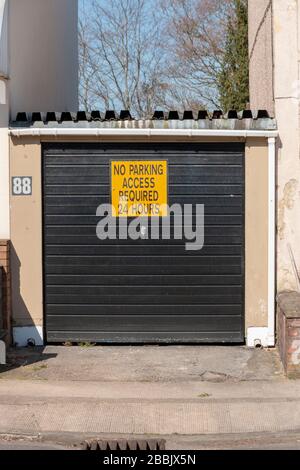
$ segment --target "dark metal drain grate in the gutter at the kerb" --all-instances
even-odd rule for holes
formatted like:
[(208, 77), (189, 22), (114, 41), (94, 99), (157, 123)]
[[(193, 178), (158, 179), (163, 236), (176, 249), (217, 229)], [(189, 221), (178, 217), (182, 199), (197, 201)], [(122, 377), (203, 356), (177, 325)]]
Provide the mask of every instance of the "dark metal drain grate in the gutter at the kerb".
[(103, 441), (93, 440), (85, 441), (82, 444), (82, 450), (165, 450), (166, 441), (163, 439), (157, 441), (154, 439), (148, 440), (116, 440), (116, 441)]

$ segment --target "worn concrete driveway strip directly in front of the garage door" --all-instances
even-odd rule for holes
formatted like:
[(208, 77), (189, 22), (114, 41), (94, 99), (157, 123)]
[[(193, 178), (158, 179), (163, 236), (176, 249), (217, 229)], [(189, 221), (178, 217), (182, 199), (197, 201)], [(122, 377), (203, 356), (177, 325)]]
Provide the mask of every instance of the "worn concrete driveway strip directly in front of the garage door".
[[(2, 374), (1, 374), (2, 371)], [(240, 346), (96, 346), (15, 349), (0, 377), (90, 382), (276, 380), (276, 350)]]

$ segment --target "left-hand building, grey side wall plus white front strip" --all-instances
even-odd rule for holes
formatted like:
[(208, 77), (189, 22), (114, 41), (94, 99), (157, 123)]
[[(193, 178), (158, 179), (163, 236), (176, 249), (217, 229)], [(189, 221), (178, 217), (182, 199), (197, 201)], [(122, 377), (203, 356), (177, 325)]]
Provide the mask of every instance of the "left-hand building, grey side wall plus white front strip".
[(10, 238), (9, 118), (77, 110), (77, 23), (77, 0), (0, 0), (1, 239)]

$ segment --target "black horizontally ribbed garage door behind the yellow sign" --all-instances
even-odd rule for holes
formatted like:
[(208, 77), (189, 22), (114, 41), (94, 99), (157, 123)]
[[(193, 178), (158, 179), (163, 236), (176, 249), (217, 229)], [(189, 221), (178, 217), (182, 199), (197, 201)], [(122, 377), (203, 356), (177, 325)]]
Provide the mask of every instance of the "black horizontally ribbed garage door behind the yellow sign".
[[(96, 237), (112, 160), (167, 160), (169, 204), (205, 204), (205, 245)], [(244, 145), (45, 144), (48, 342), (244, 341)]]

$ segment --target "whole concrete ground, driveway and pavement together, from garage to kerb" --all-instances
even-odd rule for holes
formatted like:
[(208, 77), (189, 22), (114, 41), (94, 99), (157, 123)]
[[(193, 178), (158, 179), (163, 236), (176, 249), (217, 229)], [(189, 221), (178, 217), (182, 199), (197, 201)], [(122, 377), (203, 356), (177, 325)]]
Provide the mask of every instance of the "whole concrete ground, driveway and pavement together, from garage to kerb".
[(178, 446), (174, 436), (300, 434), (300, 381), (284, 378), (276, 350), (47, 347), (14, 350), (0, 370), (2, 436), (164, 435)]

